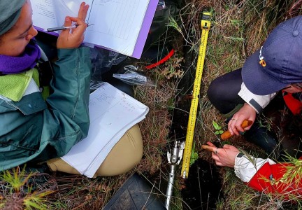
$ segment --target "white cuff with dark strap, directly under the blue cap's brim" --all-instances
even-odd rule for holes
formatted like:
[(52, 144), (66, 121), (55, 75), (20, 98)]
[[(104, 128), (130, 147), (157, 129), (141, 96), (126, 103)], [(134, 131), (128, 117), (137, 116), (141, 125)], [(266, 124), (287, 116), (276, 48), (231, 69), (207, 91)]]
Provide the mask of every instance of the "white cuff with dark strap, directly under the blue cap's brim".
[(275, 97), (276, 93), (266, 94), (266, 95), (257, 95), (245, 87), (245, 84), (241, 84), (241, 90), (238, 92), (238, 95), (245, 101), (247, 104), (252, 106), (252, 108), (260, 113), (264, 107), (268, 105), (269, 102)]

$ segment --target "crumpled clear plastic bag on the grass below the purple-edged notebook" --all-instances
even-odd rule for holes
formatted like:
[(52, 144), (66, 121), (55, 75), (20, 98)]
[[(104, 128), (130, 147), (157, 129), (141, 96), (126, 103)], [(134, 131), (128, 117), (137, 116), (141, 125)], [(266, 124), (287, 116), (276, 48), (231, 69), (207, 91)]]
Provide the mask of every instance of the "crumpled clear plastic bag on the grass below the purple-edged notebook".
[(138, 68), (132, 65), (124, 66), (123, 72), (113, 73), (114, 78), (118, 78), (122, 80), (124, 83), (128, 85), (145, 85), (156, 87), (156, 85), (148, 78), (143, 75), (143, 73), (138, 73)]

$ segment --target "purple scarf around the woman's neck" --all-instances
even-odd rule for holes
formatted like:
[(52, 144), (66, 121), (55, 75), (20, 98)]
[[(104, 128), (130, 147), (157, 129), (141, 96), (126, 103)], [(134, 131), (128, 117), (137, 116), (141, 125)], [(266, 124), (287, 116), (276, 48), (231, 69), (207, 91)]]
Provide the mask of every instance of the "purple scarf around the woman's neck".
[(24, 52), (17, 57), (0, 55), (0, 73), (13, 74), (28, 71), (36, 66), (40, 57), (41, 52), (36, 41), (30, 41)]

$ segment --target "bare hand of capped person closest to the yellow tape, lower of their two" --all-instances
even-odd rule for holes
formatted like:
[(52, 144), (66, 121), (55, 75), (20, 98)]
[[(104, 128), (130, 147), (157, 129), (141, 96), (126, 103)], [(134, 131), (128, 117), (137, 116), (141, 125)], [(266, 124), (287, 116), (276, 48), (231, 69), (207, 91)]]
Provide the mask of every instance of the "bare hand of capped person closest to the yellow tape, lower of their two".
[(207, 144), (203, 145), (202, 148), (212, 152), (212, 158), (215, 160), (216, 165), (234, 167), (235, 158), (239, 153), (238, 148), (228, 144), (224, 144), (223, 148), (217, 148), (210, 141)]

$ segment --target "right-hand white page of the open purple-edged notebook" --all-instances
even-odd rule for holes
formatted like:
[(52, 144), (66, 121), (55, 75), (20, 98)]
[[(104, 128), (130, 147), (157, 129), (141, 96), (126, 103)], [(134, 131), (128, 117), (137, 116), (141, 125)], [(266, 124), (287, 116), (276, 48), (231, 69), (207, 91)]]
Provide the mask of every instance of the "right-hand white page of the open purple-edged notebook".
[[(85, 41), (132, 55), (149, 0), (94, 0)], [(110, 12), (108, 12), (110, 11)]]

